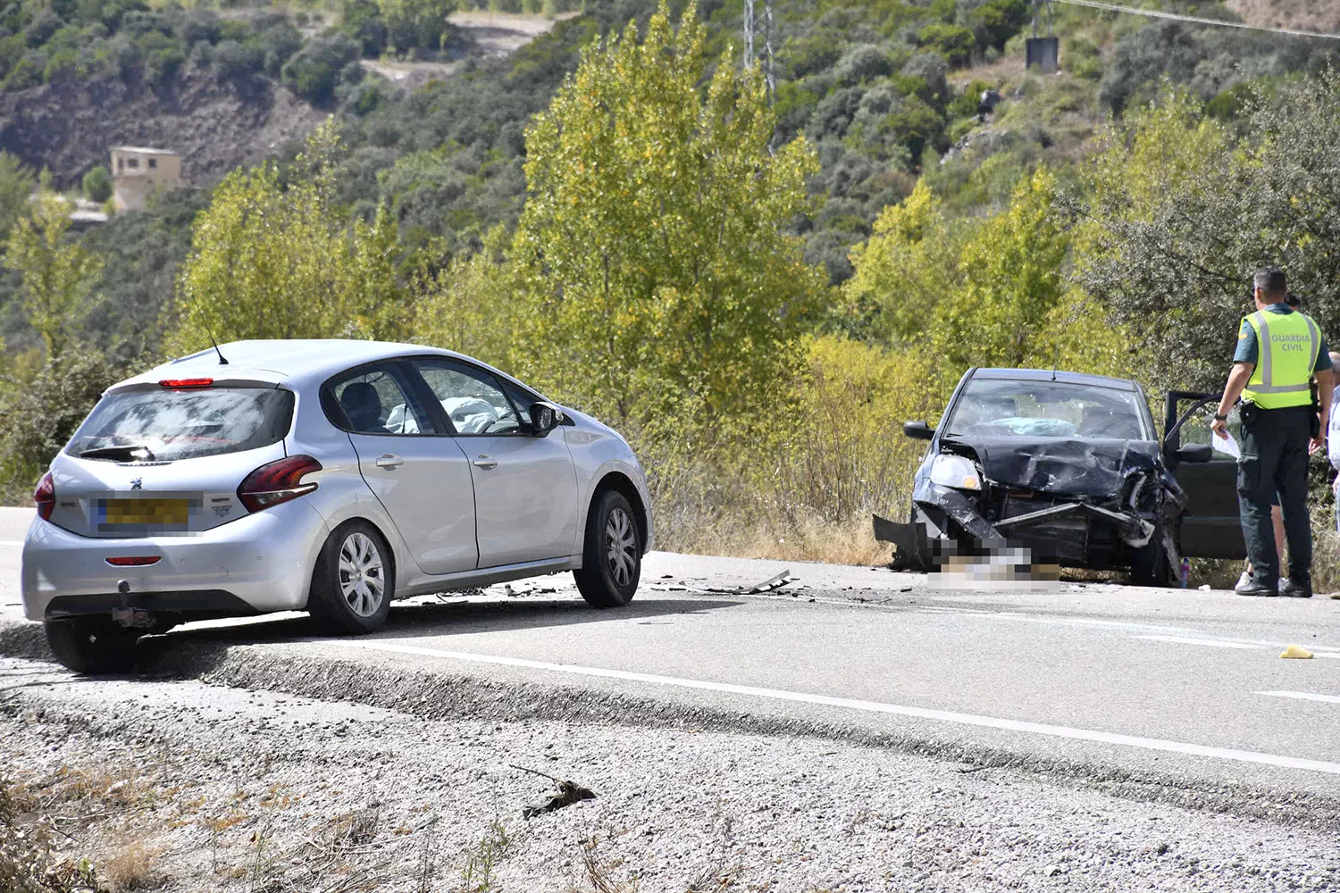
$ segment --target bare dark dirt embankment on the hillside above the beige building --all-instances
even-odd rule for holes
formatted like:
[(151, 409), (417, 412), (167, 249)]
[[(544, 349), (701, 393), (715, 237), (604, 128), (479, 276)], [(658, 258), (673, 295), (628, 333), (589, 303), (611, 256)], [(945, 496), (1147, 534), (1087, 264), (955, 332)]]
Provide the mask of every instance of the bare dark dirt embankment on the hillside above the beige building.
[(260, 79), (185, 75), (157, 88), (67, 82), (0, 94), (0, 150), (50, 167), (63, 187), (106, 165), (113, 146), (170, 149), (181, 153), (186, 181), (205, 185), (303, 138), (324, 116)]

